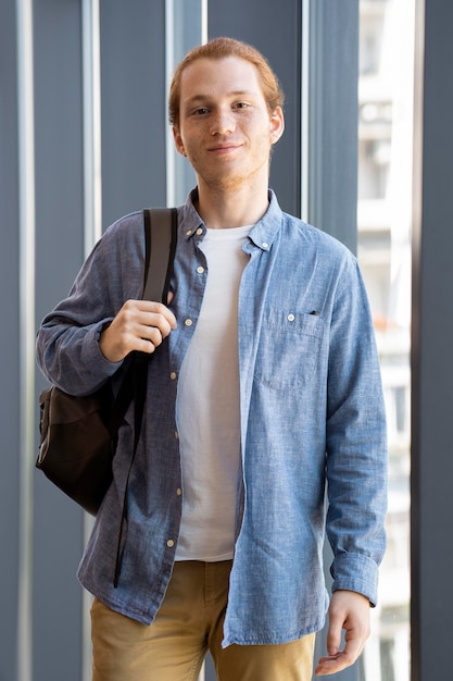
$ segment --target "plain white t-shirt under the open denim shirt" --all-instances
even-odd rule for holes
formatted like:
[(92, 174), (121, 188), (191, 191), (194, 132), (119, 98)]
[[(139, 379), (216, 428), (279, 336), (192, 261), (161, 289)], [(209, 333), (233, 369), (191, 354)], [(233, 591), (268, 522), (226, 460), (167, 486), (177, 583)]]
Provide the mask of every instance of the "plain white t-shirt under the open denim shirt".
[(232, 557), (240, 454), (238, 292), (251, 227), (207, 230), (207, 281), (176, 405), (183, 519), (176, 560)]

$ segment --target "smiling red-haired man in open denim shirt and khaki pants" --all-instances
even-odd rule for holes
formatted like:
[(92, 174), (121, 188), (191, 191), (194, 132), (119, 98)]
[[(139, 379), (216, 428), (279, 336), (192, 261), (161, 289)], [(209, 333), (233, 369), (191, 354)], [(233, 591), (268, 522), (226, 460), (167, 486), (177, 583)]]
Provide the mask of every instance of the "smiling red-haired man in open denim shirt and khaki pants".
[[(253, 48), (218, 38), (176, 70), (169, 117), (197, 174), (178, 210), (168, 306), (139, 300), (141, 213), (112, 225), (38, 334), (72, 394), (154, 354), (127, 523), (126, 414), (114, 481), (79, 568), (95, 595), (93, 681), (309, 681), (328, 605), (329, 674), (361, 654), (385, 548), (386, 429), (353, 256), (281, 212), (268, 189), (282, 94)], [(324, 500), (327, 485), (327, 518)], [(345, 645), (341, 649), (341, 631)]]

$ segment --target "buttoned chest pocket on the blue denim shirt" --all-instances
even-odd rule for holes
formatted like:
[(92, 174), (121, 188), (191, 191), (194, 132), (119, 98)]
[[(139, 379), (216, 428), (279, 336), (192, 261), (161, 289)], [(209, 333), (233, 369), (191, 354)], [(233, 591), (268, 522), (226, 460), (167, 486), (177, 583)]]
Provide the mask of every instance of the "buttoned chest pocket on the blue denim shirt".
[(325, 324), (315, 313), (270, 311), (263, 319), (254, 376), (279, 391), (309, 383), (318, 366)]

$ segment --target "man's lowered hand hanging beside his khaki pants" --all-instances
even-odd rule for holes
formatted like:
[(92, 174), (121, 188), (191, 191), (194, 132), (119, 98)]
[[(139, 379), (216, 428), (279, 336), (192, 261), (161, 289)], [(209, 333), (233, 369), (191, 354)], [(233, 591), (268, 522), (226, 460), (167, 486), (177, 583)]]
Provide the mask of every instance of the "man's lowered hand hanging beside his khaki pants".
[[(341, 630), (345, 630), (344, 649), (340, 651)], [(353, 591), (336, 591), (329, 607), (328, 657), (315, 669), (318, 677), (350, 667), (361, 655), (369, 636), (369, 600)]]

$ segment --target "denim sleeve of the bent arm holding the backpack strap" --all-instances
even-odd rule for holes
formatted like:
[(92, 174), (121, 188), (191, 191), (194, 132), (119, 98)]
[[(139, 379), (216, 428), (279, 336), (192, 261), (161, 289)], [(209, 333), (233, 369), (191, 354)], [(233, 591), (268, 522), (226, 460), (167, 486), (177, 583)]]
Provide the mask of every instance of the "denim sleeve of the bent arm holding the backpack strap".
[(83, 264), (68, 296), (38, 330), (38, 366), (71, 395), (95, 392), (122, 364), (103, 357), (99, 337), (127, 299), (141, 296), (142, 232), (141, 213), (112, 225)]

